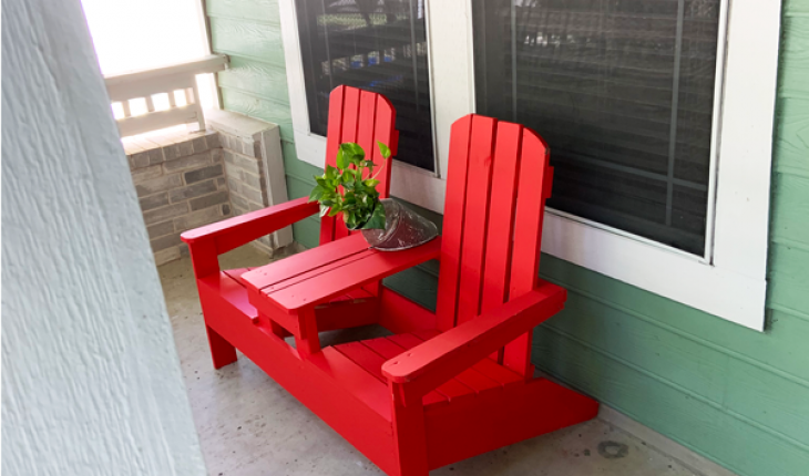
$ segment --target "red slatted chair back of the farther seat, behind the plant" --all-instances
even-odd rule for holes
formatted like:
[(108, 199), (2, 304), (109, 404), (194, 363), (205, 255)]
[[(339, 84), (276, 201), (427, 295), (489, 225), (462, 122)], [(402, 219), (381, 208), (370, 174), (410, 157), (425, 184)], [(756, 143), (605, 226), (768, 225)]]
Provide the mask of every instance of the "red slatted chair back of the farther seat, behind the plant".
[[(337, 149), (345, 142), (361, 145), (376, 164), (375, 174), (382, 198), (390, 193), (390, 169), (396, 155), (399, 134), (395, 128), (396, 110), (387, 97), (370, 91), (350, 86), (337, 86), (329, 96), (329, 124), (326, 137), (326, 164), (336, 166)], [(391, 158), (385, 159), (377, 147), (377, 141), (390, 147)], [(320, 245), (350, 235), (341, 217), (322, 217), (320, 219)]]

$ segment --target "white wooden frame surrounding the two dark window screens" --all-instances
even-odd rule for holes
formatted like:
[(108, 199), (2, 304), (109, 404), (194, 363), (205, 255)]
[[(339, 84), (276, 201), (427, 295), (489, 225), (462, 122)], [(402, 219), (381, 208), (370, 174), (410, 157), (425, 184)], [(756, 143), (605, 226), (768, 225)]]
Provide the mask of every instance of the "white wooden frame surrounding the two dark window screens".
[[(294, 1), (279, 6), (295, 142), (299, 158), (322, 167), (326, 144), (309, 131)], [(542, 251), (762, 331), (780, 14), (780, 0), (723, 2), (705, 256), (552, 208)], [(395, 162), (391, 194), (442, 213), (450, 126), (475, 111), (471, 0), (427, 0), (427, 21), (438, 170)]]

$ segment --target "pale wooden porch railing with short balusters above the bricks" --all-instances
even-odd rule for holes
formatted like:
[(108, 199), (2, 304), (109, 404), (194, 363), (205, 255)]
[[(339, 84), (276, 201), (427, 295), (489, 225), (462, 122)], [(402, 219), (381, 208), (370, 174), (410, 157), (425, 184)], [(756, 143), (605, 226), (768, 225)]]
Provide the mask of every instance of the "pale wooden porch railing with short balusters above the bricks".
[[(226, 55), (212, 54), (165, 68), (105, 76), (113, 110), (119, 105), (123, 111), (122, 114), (119, 111), (120, 117), (116, 117), (121, 136), (190, 123), (197, 123), (204, 130), (205, 116), (199, 104), (196, 75), (222, 71), (228, 63)], [(167, 108), (157, 110), (155, 97), (163, 94), (167, 95)], [(145, 101), (146, 111), (133, 115), (133, 101)], [(165, 99), (162, 101), (165, 102)]]

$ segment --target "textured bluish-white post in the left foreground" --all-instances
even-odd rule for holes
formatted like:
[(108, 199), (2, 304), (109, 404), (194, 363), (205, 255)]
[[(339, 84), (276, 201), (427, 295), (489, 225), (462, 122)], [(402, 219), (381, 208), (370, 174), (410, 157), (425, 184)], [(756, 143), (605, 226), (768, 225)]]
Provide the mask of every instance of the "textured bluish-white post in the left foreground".
[(2, 260), (2, 474), (203, 475), (79, 0), (3, 0)]

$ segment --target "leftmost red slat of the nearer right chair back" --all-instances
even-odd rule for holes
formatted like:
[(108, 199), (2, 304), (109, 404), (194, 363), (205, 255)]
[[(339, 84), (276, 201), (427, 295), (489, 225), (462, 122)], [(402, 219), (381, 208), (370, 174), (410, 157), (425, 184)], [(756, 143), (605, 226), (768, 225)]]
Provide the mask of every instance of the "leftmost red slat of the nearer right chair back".
[(472, 117), (461, 117), (452, 124), (450, 157), (447, 174), (441, 272), (438, 278), (436, 314), (438, 329), (455, 325), (458, 310), (458, 279), (461, 270), (461, 242), (463, 241), (463, 210), (467, 199), (467, 170), (471, 144)]

